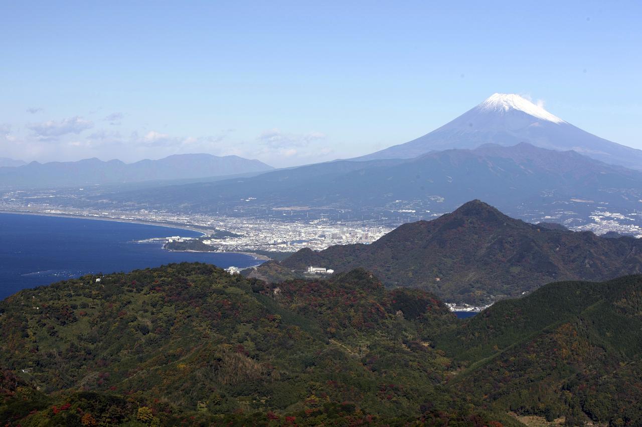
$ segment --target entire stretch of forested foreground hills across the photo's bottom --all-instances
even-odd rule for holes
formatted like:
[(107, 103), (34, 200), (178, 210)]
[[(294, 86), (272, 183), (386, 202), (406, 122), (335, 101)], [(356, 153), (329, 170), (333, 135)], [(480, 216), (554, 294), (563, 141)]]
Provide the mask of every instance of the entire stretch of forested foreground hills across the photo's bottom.
[(3, 424), (642, 423), (642, 276), (551, 283), (468, 321), (362, 269), (96, 279), (0, 302)]

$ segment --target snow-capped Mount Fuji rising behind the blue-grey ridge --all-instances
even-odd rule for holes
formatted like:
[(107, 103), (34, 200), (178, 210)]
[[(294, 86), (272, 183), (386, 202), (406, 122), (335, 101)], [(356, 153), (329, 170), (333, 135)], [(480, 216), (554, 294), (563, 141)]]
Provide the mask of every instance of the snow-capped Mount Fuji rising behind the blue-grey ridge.
[(642, 169), (642, 150), (596, 137), (516, 94), (494, 94), (437, 130), (353, 160), (414, 158), (431, 151), (473, 149), (488, 143), (514, 146), (520, 142), (573, 150), (602, 162)]

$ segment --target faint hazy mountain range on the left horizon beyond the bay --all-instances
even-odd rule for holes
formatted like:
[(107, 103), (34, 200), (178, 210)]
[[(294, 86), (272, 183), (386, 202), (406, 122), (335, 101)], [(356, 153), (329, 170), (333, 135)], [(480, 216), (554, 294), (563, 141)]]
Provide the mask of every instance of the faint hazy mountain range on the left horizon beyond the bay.
[(124, 163), (97, 158), (78, 162), (31, 162), (19, 167), (0, 167), (1, 187), (69, 187), (150, 180), (206, 178), (273, 169), (259, 160), (209, 154), (173, 155), (160, 160)]

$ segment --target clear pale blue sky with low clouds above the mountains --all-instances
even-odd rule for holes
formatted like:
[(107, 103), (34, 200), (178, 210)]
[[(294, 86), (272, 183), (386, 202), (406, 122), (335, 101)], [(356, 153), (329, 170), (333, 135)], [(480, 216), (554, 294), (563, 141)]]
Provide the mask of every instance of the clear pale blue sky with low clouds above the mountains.
[(642, 2), (0, 0), (0, 157), (364, 155), (494, 92), (642, 149)]

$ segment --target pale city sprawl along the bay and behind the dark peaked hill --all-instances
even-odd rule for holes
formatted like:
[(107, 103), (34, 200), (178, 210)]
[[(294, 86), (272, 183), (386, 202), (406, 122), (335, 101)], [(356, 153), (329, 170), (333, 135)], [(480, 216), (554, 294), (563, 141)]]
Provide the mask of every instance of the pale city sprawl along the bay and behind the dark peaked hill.
[[(205, 234), (224, 230), (240, 236), (213, 242), (222, 251), (279, 252), (293, 252), (302, 247), (320, 250), (334, 244), (370, 243), (404, 222), (435, 219), (449, 212), (440, 208), (443, 201), (441, 197), (428, 201), (430, 210), (421, 201), (397, 200), (394, 206), (361, 215), (354, 212), (351, 215), (350, 210), (336, 208), (306, 213), (284, 208), (254, 213), (184, 213), (170, 207), (153, 209), (127, 205), (119, 209), (105, 209), (101, 206), (78, 206), (73, 203), (73, 190), (64, 190), (64, 198), (60, 196), (60, 191), (6, 191), (0, 195), (0, 210), (170, 224)], [(600, 201), (571, 199), (552, 207), (519, 206), (512, 216), (535, 224), (555, 222), (569, 230), (593, 231), (598, 235), (612, 232), (642, 237), (642, 200), (639, 203), (639, 210), (614, 209)]]

